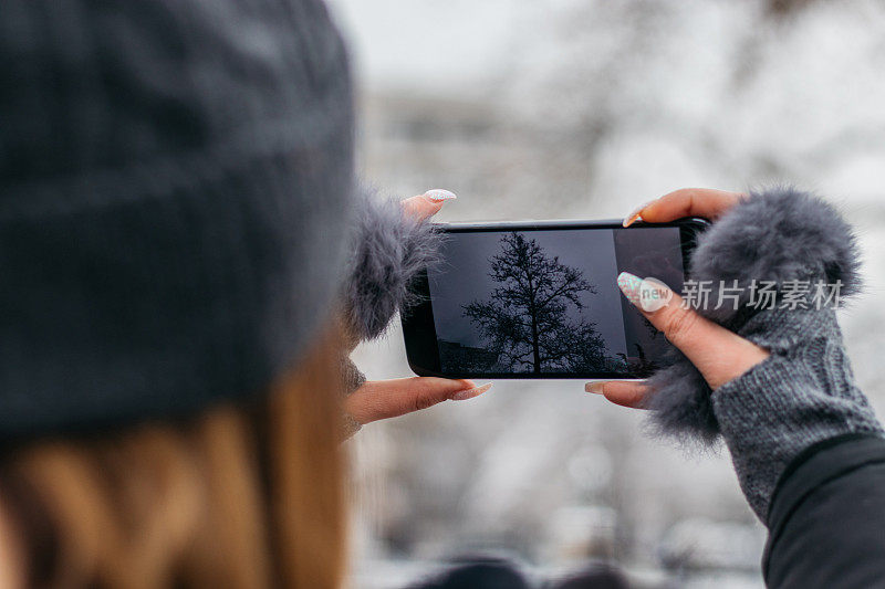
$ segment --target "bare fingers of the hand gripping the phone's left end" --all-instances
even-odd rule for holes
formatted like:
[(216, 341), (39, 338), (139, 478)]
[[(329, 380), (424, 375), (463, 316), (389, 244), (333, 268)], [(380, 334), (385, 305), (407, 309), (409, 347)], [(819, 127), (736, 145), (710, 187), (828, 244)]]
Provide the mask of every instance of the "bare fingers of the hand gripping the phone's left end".
[[(428, 190), (403, 201), (406, 214), (425, 220), (455, 199), (447, 190)], [(379, 419), (395, 418), (427, 409), (442, 401), (464, 401), (489, 390), (491, 383), (477, 386), (472, 380), (412, 377), (395, 380), (369, 380), (353, 391), (344, 401), (344, 410), (364, 425)]]

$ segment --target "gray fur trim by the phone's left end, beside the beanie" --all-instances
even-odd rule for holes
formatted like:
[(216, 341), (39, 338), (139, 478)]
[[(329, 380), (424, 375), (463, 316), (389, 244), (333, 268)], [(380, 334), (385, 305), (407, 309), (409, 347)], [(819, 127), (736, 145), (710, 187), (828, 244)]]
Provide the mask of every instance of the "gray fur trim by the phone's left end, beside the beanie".
[(416, 296), (412, 282), (433, 264), (441, 235), (403, 214), (398, 200), (364, 190), (356, 202), (354, 244), (344, 285), (345, 317), (356, 340), (381, 336)]

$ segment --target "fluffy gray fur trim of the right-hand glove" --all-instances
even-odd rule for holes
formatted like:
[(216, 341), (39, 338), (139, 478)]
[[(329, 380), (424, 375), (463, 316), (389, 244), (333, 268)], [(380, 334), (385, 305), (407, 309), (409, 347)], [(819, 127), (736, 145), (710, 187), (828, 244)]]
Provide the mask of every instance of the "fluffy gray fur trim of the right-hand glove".
[[(787, 349), (795, 344), (790, 325), (775, 333), (756, 333), (747, 322), (758, 313), (747, 306), (753, 280), (842, 281), (841, 297), (861, 288), (860, 253), (851, 227), (824, 200), (792, 187), (753, 191), (726, 213), (698, 240), (689, 276), (697, 281), (726, 281), (745, 287), (741, 306), (698, 309), (701, 315), (768, 347)], [(712, 307), (715, 305), (710, 305)], [(764, 322), (763, 322), (764, 323)], [(710, 387), (680, 353), (648, 380), (647, 401), (656, 433), (681, 441), (711, 444), (719, 434)]]

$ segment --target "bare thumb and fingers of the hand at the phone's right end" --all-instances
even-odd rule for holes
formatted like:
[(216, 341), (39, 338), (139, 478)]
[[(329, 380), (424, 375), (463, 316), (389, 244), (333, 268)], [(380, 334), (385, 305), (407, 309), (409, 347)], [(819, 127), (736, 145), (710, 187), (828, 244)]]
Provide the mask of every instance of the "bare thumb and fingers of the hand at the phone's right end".
[[(650, 223), (666, 223), (683, 217), (702, 217), (715, 221), (746, 198), (740, 192), (684, 188), (657, 200), (645, 203), (624, 219), (624, 227), (642, 218)], [(695, 311), (684, 308), (681, 297), (675, 294), (666, 305), (655, 311), (645, 311), (636, 304), (636, 291), (642, 282), (626, 276), (618, 281), (625, 296), (667, 339), (694, 364), (710, 388), (716, 389), (764, 360), (769, 353), (733, 332), (701, 317)], [(610, 381), (589, 382), (587, 392), (605, 396), (613, 403), (642, 408), (647, 387), (643, 382)]]

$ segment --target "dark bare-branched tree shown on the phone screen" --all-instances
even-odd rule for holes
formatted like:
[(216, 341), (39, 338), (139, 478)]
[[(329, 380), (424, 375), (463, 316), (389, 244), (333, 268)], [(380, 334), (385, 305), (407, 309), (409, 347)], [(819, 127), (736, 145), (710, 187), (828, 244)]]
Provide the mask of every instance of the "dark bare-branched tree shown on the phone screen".
[(498, 366), (535, 374), (610, 368), (603, 338), (582, 316), (582, 295), (596, 293), (583, 273), (520, 233), (508, 233), (500, 245), (489, 259), (496, 288), (462, 307)]

